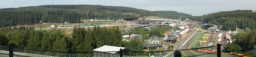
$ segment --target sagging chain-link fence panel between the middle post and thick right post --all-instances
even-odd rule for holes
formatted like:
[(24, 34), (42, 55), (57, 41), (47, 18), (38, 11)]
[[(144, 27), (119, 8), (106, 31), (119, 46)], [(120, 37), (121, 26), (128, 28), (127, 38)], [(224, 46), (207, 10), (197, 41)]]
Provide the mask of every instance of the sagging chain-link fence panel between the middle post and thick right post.
[(217, 46), (185, 49), (185, 50), (165, 50), (165, 51), (124, 51), (124, 57), (217, 57)]

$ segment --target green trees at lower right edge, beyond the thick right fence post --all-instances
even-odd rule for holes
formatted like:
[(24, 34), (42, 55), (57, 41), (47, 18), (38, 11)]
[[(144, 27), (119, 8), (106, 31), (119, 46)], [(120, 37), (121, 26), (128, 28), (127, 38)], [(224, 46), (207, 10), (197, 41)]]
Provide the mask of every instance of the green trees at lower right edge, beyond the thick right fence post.
[[(246, 54), (249, 57), (256, 56), (255, 46), (256, 46), (256, 30), (247, 31), (243, 33), (239, 33), (233, 36), (232, 43), (228, 43), (225, 46), (225, 50), (234, 51), (234, 52), (241, 52), (242, 54)], [(236, 44), (236, 45), (229, 45), (229, 44)]]

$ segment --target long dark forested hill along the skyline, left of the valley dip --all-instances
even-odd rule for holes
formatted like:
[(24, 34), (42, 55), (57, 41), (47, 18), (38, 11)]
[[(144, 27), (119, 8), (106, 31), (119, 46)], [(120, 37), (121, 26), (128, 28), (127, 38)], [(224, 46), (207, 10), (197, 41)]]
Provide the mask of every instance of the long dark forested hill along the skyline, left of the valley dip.
[[(42, 5), (32, 7), (2, 8), (0, 9), (0, 27), (15, 25), (31, 25), (39, 22), (60, 23), (61, 16), (69, 23), (80, 23), (80, 19), (120, 20), (121, 18), (142, 18), (143, 16), (157, 16), (166, 19), (188, 18), (183, 13), (166, 13), (148, 11), (132, 7), (115, 7), (102, 5)], [(191, 15), (192, 16), (192, 15)], [(63, 21), (63, 22), (64, 22)]]

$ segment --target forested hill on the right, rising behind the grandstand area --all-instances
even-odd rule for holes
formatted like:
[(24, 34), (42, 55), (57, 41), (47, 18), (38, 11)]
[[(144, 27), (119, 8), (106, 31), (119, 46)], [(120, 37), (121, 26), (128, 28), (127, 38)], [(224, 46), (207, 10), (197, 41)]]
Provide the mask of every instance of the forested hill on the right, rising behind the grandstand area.
[(224, 27), (225, 30), (255, 29), (256, 13), (252, 10), (234, 10), (208, 14), (204, 17), (203, 23), (216, 24)]

